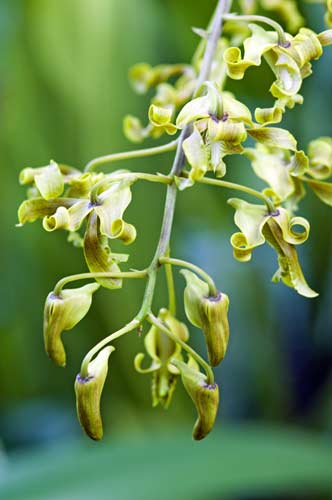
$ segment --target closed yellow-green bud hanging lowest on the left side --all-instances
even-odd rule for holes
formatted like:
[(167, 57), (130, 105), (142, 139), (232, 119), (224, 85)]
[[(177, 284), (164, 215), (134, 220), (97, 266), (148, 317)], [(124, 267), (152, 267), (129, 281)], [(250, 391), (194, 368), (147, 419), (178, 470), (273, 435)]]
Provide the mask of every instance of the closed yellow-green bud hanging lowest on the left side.
[(96, 441), (103, 437), (100, 399), (108, 372), (108, 358), (113, 351), (113, 346), (105, 347), (89, 363), (87, 376), (78, 374), (75, 380), (78, 420), (84, 432)]

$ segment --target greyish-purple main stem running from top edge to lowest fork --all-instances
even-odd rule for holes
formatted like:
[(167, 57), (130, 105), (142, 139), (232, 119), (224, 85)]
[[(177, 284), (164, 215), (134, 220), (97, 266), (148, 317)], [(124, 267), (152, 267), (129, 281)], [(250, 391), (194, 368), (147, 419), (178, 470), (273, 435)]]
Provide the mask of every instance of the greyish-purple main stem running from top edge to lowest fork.
[[(222, 32), (222, 19), (223, 15), (229, 11), (231, 2), (228, 0), (219, 0), (212, 22), (211, 22), (211, 30), (206, 42), (206, 48), (204, 52), (204, 57), (201, 64), (200, 73), (198, 75), (198, 79), (196, 82), (196, 88), (193, 94), (199, 89), (202, 83), (205, 80), (209, 79), (209, 75), (211, 73), (211, 68), (213, 64), (214, 54), (218, 45), (218, 41)], [(178, 176), (183, 168), (184, 163), (184, 152), (182, 148), (183, 141), (187, 137), (189, 131), (191, 129), (191, 125), (187, 125), (181, 132), (178, 142), (177, 149), (174, 158), (174, 162), (170, 171), (169, 176)], [(140, 321), (143, 321), (147, 315), (151, 312), (151, 305), (154, 296), (154, 290), (156, 286), (157, 279), (157, 271), (159, 269), (160, 263), (159, 259), (164, 257), (169, 248), (169, 242), (172, 232), (172, 225), (174, 219), (175, 212), (175, 203), (177, 197), (177, 188), (175, 183), (173, 182), (167, 187), (165, 208), (164, 208), (164, 216), (161, 227), (161, 233), (159, 242), (157, 245), (157, 249), (155, 255), (152, 259), (152, 262), (149, 266), (149, 280), (145, 289), (144, 299), (142, 303), (142, 307), (140, 312), (138, 313), (137, 318)]]

